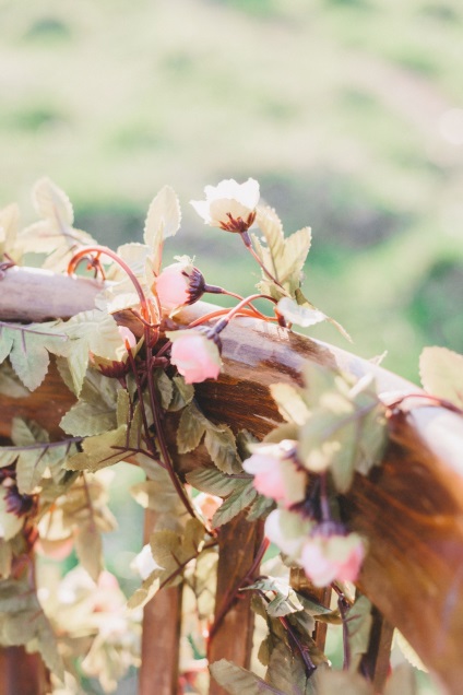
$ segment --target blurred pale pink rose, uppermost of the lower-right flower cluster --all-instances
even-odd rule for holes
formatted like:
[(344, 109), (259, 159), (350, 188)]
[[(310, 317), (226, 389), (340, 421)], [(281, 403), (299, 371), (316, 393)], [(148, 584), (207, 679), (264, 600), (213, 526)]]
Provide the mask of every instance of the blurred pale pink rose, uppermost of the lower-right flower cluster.
[(307, 476), (296, 468), (293, 458), (295, 441), (285, 439), (280, 444), (261, 445), (242, 463), (247, 473), (254, 476), (256, 490), (265, 497), (290, 507), (306, 496)]

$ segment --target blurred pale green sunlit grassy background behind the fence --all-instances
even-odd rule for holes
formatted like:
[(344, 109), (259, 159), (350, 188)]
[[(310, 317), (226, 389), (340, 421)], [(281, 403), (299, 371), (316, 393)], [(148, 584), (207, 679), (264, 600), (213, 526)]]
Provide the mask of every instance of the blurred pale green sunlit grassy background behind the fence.
[(28, 222), (48, 175), (117, 246), (170, 184), (168, 254), (244, 293), (242, 245), (189, 200), (252, 176), (311, 225), (305, 294), (354, 346), (314, 337), (413, 380), (423, 346), (463, 352), (461, 0), (0, 0), (0, 207)]

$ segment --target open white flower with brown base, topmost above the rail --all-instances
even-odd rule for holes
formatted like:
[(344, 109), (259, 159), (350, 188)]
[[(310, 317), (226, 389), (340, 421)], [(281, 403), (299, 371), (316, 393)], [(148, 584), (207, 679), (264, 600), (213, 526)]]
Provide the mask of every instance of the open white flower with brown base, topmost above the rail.
[(253, 178), (245, 184), (226, 179), (218, 186), (206, 186), (204, 192), (205, 200), (190, 202), (206, 224), (228, 232), (246, 232), (251, 226), (260, 198), (259, 182)]

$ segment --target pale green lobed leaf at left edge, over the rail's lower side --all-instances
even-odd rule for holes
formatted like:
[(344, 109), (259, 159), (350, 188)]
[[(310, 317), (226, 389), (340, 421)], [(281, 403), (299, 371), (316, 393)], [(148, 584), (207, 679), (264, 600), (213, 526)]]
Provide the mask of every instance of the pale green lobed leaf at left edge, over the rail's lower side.
[(0, 322), (0, 362), (10, 356), (15, 374), (31, 391), (45, 379), (49, 352), (61, 354), (66, 350), (62, 326), (61, 321), (28, 326)]

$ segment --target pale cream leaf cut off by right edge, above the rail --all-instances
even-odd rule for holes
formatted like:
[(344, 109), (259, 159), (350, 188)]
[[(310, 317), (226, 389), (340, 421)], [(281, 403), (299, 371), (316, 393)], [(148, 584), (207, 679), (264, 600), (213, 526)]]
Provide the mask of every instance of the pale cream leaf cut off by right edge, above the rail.
[(419, 357), (423, 388), (463, 409), (463, 355), (447, 348), (425, 348)]

